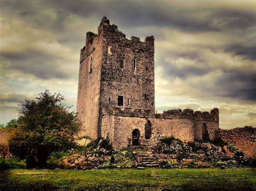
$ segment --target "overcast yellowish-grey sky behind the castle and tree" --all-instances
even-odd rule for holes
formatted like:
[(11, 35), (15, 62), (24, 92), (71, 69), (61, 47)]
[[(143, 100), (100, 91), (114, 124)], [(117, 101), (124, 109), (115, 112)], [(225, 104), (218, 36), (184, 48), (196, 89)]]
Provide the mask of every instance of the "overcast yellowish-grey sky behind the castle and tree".
[(156, 109), (220, 110), (220, 128), (256, 126), (255, 1), (0, 0), (0, 123), (49, 89), (76, 109), (80, 48), (103, 16), (155, 37)]

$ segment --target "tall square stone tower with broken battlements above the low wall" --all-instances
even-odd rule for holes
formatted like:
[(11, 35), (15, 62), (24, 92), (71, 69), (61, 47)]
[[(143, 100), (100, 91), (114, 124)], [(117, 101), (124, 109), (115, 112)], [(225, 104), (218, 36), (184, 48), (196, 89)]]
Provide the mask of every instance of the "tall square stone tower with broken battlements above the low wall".
[(154, 37), (125, 38), (102, 18), (98, 34), (87, 32), (80, 52), (77, 112), (80, 136), (102, 136), (103, 108), (154, 114)]

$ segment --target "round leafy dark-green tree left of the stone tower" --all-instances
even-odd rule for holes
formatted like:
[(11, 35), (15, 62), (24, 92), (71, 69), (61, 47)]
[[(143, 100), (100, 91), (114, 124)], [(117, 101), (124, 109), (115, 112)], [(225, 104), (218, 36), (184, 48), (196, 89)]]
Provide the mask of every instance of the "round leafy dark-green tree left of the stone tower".
[(10, 152), (26, 158), (28, 167), (44, 167), (57, 151), (75, 147), (74, 135), (80, 129), (71, 107), (62, 104), (64, 97), (49, 90), (19, 105), (17, 129), (9, 139)]

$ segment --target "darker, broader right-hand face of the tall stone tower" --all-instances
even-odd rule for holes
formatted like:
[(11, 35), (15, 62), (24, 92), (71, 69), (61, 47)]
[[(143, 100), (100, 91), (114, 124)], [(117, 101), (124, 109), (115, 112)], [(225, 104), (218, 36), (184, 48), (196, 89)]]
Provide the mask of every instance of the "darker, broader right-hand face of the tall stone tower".
[[(153, 114), (154, 38), (128, 40), (108, 19), (102, 22), (98, 29), (104, 38), (100, 108), (149, 109)], [(118, 106), (118, 96), (123, 96), (123, 106)]]

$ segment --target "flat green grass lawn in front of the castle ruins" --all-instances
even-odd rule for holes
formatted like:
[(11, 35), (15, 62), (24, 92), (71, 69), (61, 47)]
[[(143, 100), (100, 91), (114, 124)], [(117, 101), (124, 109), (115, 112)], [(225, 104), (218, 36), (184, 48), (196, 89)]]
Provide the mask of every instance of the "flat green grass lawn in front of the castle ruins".
[[(48, 174), (17, 174), (48, 172)], [(255, 190), (255, 168), (207, 169), (11, 169), (0, 174), (0, 190), (31, 189)]]

